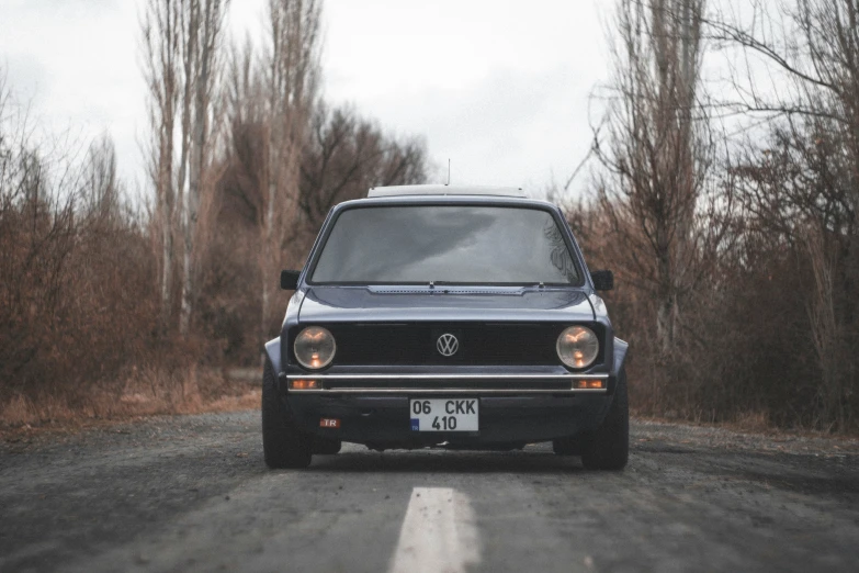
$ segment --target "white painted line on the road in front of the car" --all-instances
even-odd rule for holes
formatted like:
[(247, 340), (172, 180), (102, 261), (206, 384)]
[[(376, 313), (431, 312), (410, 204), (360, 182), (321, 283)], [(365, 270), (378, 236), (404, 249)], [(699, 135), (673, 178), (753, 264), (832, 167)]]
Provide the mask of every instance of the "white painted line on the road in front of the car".
[(457, 573), (479, 562), (481, 540), (468, 497), (449, 487), (415, 487), (391, 573)]

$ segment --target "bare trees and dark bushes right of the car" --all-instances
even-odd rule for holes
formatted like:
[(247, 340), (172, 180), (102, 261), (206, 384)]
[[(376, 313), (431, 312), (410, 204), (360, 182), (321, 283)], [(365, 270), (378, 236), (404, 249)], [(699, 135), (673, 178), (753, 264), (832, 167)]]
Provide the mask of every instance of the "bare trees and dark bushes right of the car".
[(568, 213), (618, 271), (641, 413), (857, 428), (857, 14), (619, 0), (594, 193)]

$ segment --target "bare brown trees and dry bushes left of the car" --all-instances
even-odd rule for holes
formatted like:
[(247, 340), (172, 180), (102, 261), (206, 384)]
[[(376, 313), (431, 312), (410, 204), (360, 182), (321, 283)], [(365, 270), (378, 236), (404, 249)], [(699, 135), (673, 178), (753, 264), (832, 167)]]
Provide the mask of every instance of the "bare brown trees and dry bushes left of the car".
[[(228, 0), (145, 0), (143, 203), (109, 136), (83, 157), (0, 70), (0, 412), (4, 422), (176, 409), (256, 366), (327, 211), (425, 181), (426, 146), (320, 93), (320, 0), (269, 0), (228, 37)], [(148, 400), (148, 398), (147, 398)], [(133, 409), (133, 408), (131, 408)]]

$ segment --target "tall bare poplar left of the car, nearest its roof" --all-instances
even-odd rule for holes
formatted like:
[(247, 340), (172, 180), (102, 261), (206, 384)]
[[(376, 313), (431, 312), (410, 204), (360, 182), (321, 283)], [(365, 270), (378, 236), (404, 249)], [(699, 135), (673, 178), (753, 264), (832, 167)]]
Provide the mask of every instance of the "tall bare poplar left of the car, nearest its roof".
[(272, 326), (278, 270), (299, 263), (301, 161), (317, 103), (321, 0), (269, 0), (265, 46), (230, 54), (225, 88), (229, 122), (228, 187), (259, 233), (259, 337)]

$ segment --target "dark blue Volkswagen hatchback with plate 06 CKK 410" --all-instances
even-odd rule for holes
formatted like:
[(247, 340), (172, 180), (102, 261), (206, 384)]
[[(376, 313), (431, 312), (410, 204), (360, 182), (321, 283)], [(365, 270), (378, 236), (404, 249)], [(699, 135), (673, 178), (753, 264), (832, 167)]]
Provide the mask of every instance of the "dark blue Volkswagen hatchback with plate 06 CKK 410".
[(342, 441), (516, 449), (589, 469), (629, 450), (624, 359), (555, 205), (517, 189), (376, 188), (328, 214), (265, 345), (262, 442), (302, 468)]

